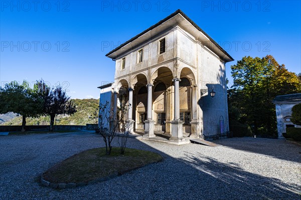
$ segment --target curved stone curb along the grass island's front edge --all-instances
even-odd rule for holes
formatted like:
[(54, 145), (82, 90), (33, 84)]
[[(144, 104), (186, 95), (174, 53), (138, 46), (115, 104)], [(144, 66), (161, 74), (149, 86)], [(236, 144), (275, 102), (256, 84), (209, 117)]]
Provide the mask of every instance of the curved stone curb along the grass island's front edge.
[(80, 186), (85, 186), (85, 185), (89, 185), (89, 184), (93, 184), (93, 183), (97, 183), (97, 182), (101, 182), (104, 180), (108, 180), (111, 178), (114, 178), (118, 175), (121, 175), (121, 173), (113, 173), (111, 175), (105, 176), (105, 177), (101, 177), (101, 178), (97, 178), (94, 180), (91, 180), (89, 182), (78, 182), (78, 183), (74, 183), (74, 182), (70, 182), (70, 183), (52, 183), (49, 182), (47, 180), (44, 179), (43, 174), (41, 175), (40, 178), (40, 183), (46, 187), (51, 187), (51, 188), (59, 188), (59, 189), (65, 189), (65, 188), (73, 188), (73, 187), (80, 187)]

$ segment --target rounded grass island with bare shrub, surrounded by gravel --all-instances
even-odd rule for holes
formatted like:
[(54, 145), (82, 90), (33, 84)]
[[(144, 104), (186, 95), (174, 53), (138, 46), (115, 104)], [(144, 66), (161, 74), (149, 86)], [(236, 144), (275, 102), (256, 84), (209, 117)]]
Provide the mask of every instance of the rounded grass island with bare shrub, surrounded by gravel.
[(111, 154), (106, 155), (105, 147), (95, 148), (63, 160), (44, 172), (43, 177), (53, 183), (89, 182), (161, 160), (161, 155), (150, 151), (126, 148), (121, 155), (120, 148), (113, 147)]

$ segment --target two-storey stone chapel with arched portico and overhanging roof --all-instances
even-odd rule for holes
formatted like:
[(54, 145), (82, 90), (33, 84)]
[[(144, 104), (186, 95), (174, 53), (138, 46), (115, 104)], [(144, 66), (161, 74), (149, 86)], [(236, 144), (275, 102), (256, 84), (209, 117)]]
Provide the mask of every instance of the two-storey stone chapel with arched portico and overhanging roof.
[(115, 77), (99, 87), (100, 102), (114, 111), (131, 105), (125, 120), (133, 134), (181, 144), (229, 130), (225, 65), (233, 58), (181, 10), (106, 56)]

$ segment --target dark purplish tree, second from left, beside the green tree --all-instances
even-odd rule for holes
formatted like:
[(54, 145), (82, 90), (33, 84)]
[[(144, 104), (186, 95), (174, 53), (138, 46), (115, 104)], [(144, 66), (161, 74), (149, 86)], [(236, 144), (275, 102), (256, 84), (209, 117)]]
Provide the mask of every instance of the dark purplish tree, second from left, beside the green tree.
[(53, 131), (55, 116), (58, 114), (71, 115), (76, 112), (76, 106), (66, 91), (59, 85), (51, 89), (43, 80), (37, 81), (35, 91), (41, 99), (44, 100), (43, 113), (50, 116), (50, 131)]

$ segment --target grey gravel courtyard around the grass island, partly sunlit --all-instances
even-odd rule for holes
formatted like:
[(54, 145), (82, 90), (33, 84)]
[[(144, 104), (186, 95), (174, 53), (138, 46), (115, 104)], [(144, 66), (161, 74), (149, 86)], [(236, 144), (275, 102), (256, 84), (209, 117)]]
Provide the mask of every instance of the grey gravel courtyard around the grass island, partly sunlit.
[[(285, 140), (230, 138), (219, 147), (128, 140), (164, 161), (83, 187), (52, 189), (39, 176), (86, 149), (89, 132), (0, 136), (0, 199), (300, 199), (301, 148)], [(114, 146), (117, 146), (115, 138)]]

